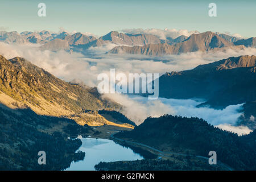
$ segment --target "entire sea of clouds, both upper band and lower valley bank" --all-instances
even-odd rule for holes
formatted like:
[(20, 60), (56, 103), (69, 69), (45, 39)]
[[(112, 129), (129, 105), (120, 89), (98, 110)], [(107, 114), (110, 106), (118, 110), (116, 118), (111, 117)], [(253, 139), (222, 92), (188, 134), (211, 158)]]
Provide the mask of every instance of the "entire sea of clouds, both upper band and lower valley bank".
[[(90, 48), (90, 55), (65, 51), (51, 52), (40, 51), (35, 44), (5, 44), (0, 43), (0, 54), (7, 59), (15, 56), (24, 57), (31, 63), (45, 69), (52, 75), (65, 81), (74, 79), (83, 81), (88, 86), (97, 86), (97, 76), (100, 73), (109, 74), (110, 69), (115, 68), (116, 73), (165, 73), (171, 71), (183, 71), (195, 68), (200, 64), (208, 64), (213, 61), (226, 59), (230, 56), (256, 55), (256, 48), (243, 50), (228, 49), (225, 52), (190, 52), (180, 55), (168, 55), (150, 57), (144, 55), (112, 55), (105, 52), (113, 48), (112, 44), (105, 47)], [(143, 122), (148, 116), (158, 117), (163, 114), (176, 114), (187, 117), (203, 118), (214, 126), (234, 131), (238, 134), (249, 133), (247, 127), (237, 127), (236, 121), (240, 117), (241, 105), (228, 106), (224, 110), (214, 110), (207, 107), (195, 107), (199, 101), (193, 100), (159, 100), (148, 101), (147, 98), (128, 97), (122, 94), (108, 94), (105, 97), (112, 98), (125, 106), (123, 113), (137, 124)]]

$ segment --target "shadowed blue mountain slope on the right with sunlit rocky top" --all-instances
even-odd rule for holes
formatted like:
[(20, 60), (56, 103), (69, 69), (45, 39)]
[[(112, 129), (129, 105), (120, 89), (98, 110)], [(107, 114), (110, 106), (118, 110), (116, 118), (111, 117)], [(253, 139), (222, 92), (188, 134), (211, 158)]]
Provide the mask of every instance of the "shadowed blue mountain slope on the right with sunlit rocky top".
[[(210, 105), (223, 109), (228, 105), (256, 101), (256, 56), (229, 57), (214, 63), (181, 72), (166, 73), (159, 78), (159, 96), (166, 98), (203, 98), (200, 106)], [(252, 103), (251, 103), (252, 102)], [(251, 103), (251, 104), (249, 104)], [(246, 121), (250, 121), (253, 108), (245, 106)], [(251, 115), (249, 114), (251, 113)]]

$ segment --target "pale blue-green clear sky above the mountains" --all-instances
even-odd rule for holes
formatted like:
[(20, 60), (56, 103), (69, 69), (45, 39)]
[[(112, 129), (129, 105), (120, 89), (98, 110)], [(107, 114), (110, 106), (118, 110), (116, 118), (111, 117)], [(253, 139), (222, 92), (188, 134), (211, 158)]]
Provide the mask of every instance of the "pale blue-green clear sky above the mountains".
[[(47, 16), (39, 17), (38, 3), (47, 6)], [(217, 17), (208, 16), (208, 5), (217, 5)], [(256, 1), (49, 1), (1, 0), (0, 30), (68, 31), (104, 35), (123, 28), (176, 28), (238, 33), (256, 36)]]

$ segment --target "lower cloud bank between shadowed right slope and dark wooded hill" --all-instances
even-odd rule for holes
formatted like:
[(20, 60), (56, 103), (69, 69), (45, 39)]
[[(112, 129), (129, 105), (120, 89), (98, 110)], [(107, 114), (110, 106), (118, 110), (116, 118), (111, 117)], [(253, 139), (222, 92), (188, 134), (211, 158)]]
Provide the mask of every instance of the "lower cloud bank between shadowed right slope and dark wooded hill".
[(108, 94), (105, 97), (125, 105), (123, 114), (140, 125), (147, 117), (160, 117), (163, 114), (181, 115), (183, 117), (198, 117), (219, 127), (222, 130), (232, 131), (238, 135), (249, 134), (251, 130), (246, 126), (236, 126), (241, 116), (242, 105), (230, 105), (218, 110), (209, 107), (196, 107), (201, 101), (176, 100), (159, 98), (147, 100), (147, 97), (124, 96), (122, 94)]

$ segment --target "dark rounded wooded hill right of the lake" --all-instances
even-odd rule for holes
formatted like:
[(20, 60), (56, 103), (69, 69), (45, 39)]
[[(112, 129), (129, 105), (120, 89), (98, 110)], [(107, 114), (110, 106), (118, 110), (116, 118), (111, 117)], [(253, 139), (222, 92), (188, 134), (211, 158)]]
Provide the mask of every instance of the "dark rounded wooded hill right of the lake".
[(234, 169), (256, 169), (255, 131), (247, 136), (220, 130), (199, 118), (163, 115), (147, 118), (132, 131), (115, 134), (159, 150), (191, 150), (192, 154), (208, 156), (217, 152), (217, 159)]

